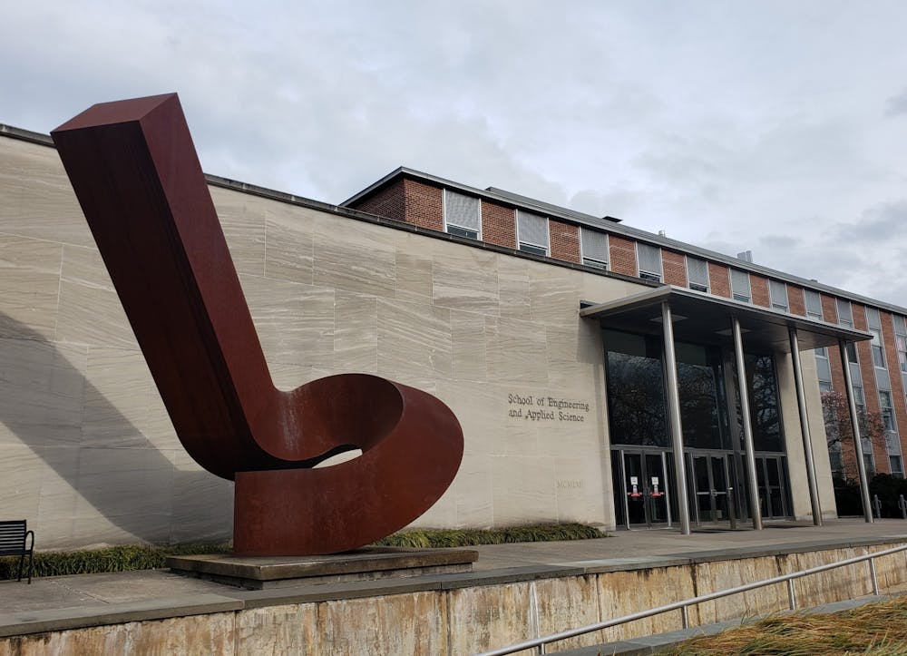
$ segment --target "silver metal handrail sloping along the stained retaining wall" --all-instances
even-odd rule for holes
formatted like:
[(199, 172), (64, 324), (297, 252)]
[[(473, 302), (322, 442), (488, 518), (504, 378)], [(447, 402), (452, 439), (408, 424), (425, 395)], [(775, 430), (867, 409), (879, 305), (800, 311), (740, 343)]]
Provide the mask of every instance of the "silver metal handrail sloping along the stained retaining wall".
[(502, 647), (493, 651), (483, 651), (483, 653), (478, 654), (478, 656), (502, 656), (502, 654), (513, 653), (514, 651), (522, 651), (525, 649), (531, 649), (532, 647), (537, 647), (540, 654), (545, 653), (545, 645), (551, 642), (557, 642), (561, 640), (566, 640), (567, 638), (574, 638), (578, 635), (583, 635), (584, 633), (590, 633), (593, 631), (601, 631), (602, 629), (609, 629), (612, 626), (618, 626), (619, 624), (625, 624), (627, 622), (634, 622), (635, 620), (643, 620), (647, 617), (652, 617), (653, 615), (660, 615), (662, 612), (677, 611), (681, 612), (683, 618), (683, 628), (687, 629), (689, 627), (689, 616), (688, 616), (688, 607), (702, 602), (710, 602), (713, 599), (720, 599), (722, 597), (727, 597), (732, 594), (738, 594), (740, 592), (748, 592), (750, 590), (755, 590), (756, 588), (762, 588), (766, 585), (774, 585), (775, 583), (787, 583), (787, 602), (790, 606), (790, 610), (795, 611), (797, 608), (796, 597), (794, 593), (794, 579), (799, 579), (810, 574), (826, 572), (828, 570), (834, 570), (837, 567), (845, 567), (847, 565), (852, 565), (854, 563), (862, 563), (863, 561), (869, 561), (869, 573), (870, 579), (873, 582), (873, 594), (879, 593), (879, 580), (875, 573), (875, 559), (882, 556), (887, 556), (892, 553), (898, 553), (902, 551), (907, 551), (907, 544), (902, 544), (898, 547), (893, 547), (892, 549), (885, 549), (881, 552), (876, 553), (867, 553), (862, 556), (855, 556), (853, 558), (848, 558), (847, 560), (840, 561), (839, 563), (829, 563), (827, 565), (819, 565), (818, 567), (811, 567), (806, 570), (801, 570), (800, 572), (783, 574), (781, 576), (775, 576), (771, 579), (766, 579), (765, 581), (757, 581), (756, 583), (746, 583), (746, 585), (738, 585), (736, 588), (728, 588), (727, 590), (722, 590), (720, 592), (710, 592), (708, 594), (702, 594), (698, 597), (692, 597), (690, 599), (685, 599), (682, 602), (668, 603), (664, 606), (658, 606), (658, 608), (650, 609), (649, 611), (640, 611), (634, 612), (630, 615), (624, 615), (623, 617), (616, 618), (614, 620), (608, 620), (607, 622), (596, 622), (595, 624), (588, 624), (587, 626), (580, 626), (577, 629), (571, 629), (570, 631), (564, 631), (560, 633), (552, 633), (551, 635), (542, 636), (541, 638), (536, 638), (534, 640), (528, 640), (524, 642), (519, 642), (517, 644), (512, 644), (508, 647)]

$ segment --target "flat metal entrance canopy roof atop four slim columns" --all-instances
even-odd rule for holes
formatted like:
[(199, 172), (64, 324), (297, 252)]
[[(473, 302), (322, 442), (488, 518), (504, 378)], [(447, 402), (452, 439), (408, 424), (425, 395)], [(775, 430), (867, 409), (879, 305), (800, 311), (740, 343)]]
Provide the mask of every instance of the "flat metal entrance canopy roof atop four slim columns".
[[(747, 348), (790, 352), (789, 328), (796, 328), (800, 350), (836, 347), (840, 339), (872, 339), (863, 330), (842, 328), (814, 318), (799, 317), (770, 308), (724, 299), (700, 291), (663, 285), (580, 309), (580, 317), (604, 320), (609, 328), (661, 333), (661, 305), (668, 302), (678, 341), (732, 343), (732, 319), (739, 321)], [(584, 304), (585, 305), (585, 304)]]

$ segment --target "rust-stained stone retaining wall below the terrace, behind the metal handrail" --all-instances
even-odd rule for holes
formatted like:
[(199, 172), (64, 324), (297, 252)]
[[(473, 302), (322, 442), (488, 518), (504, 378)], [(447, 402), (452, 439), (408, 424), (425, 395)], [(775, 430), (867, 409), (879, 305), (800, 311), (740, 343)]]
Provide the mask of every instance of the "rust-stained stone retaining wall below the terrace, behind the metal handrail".
[[(547, 573), (525, 572), (522, 576), (530, 580), (522, 581), (520, 573), (498, 572), (483, 585), (470, 583), (468, 577), (460, 581), (436, 577), (434, 584), (420, 580), (398, 582), (397, 590), (408, 587), (407, 592), (360, 598), (355, 598), (356, 594), (364, 589), (356, 592), (353, 585), (347, 586), (346, 598), (341, 598), (343, 592), (336, 591), (334, 598), (326, 594), (323, 601), (317, 602), (294, 602), (292, 591), (238, 592), (229, 600), (224, 597), (236, 609), (228, 612), (134, 622), (122, 621), (128, 618), (121, 615), (120, 623), (99, 626), (87, 625), (102, 624), (101, 617), (84, 618), (86, 628), (0, 638), (0, 656), (471, 654), (892, 546), (852, 546), (698, 563), (688, 558), (687, 563), (681, 564), (668, 564), (670, 560), (665, 558), (663, 566), (630, 563), (630, 569), (625, 566), (619, 570), (612, 562), (598, 568), (574, 569), (580, 572), (574, 575), (559, 576), (559, 568), (549, 568)], [(907, 553), (883, 557), (876, 569), (882, 592), (907, 583)], [(870, 594), (868, 573), (868, 563), (858, 563), (799, 580), (795, 582), (797, 602), (801, 607), (811, 607)], [(307, 595), (300, 596), (298, 591), (296, 595), (297, 599), (311, 599), (317, 592), (313, 594), (309, 589)], [(786, 584), (781, 583), (699, 604), (689, 610), (689, 620), (691, 625), (708, 624), (786, 609)], [(54, 611), (54, 615), (60, 617), (64, 612)], [(137, 617), (141, 615), (137, 613)], [(670, 612), (563, 641), (556, 648), (565, 650), (679, 628), (680, 613)]]

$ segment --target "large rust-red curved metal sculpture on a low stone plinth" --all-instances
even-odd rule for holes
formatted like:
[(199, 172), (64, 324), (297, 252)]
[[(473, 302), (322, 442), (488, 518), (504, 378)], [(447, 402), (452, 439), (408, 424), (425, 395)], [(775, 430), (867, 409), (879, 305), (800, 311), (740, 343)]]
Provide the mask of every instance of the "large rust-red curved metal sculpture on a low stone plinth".
[(463, 432), (439, 399), (366, 374), (274, 387), (176, 94), (52, 134), (180, 441), (236, 481), (237, 554), (355, 549), (444, 494)]

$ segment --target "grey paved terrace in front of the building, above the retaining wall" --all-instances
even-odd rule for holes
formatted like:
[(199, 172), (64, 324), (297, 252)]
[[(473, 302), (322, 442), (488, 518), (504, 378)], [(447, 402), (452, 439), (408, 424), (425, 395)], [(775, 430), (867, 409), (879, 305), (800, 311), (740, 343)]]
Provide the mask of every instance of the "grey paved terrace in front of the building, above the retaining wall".
[(486, 545), (473, 547), (479, 553), (473, 573), (309, 584), (272, 591), (239, 590), (169, 570), (47, 577), (34, 579), (31, 585), (0, 583), (0, 636), (96, 625), (111, 617), (117, 622), (160, 619), (276, 603), (462, 588), (882, 543), (907, 543), (907, 521), (866, 524), (862, 519), (838, 519), (821, 527), (770, 523), (761, 532), (702, 530), (688, 536), (671, 529), (619, 531), (597, 540)]

